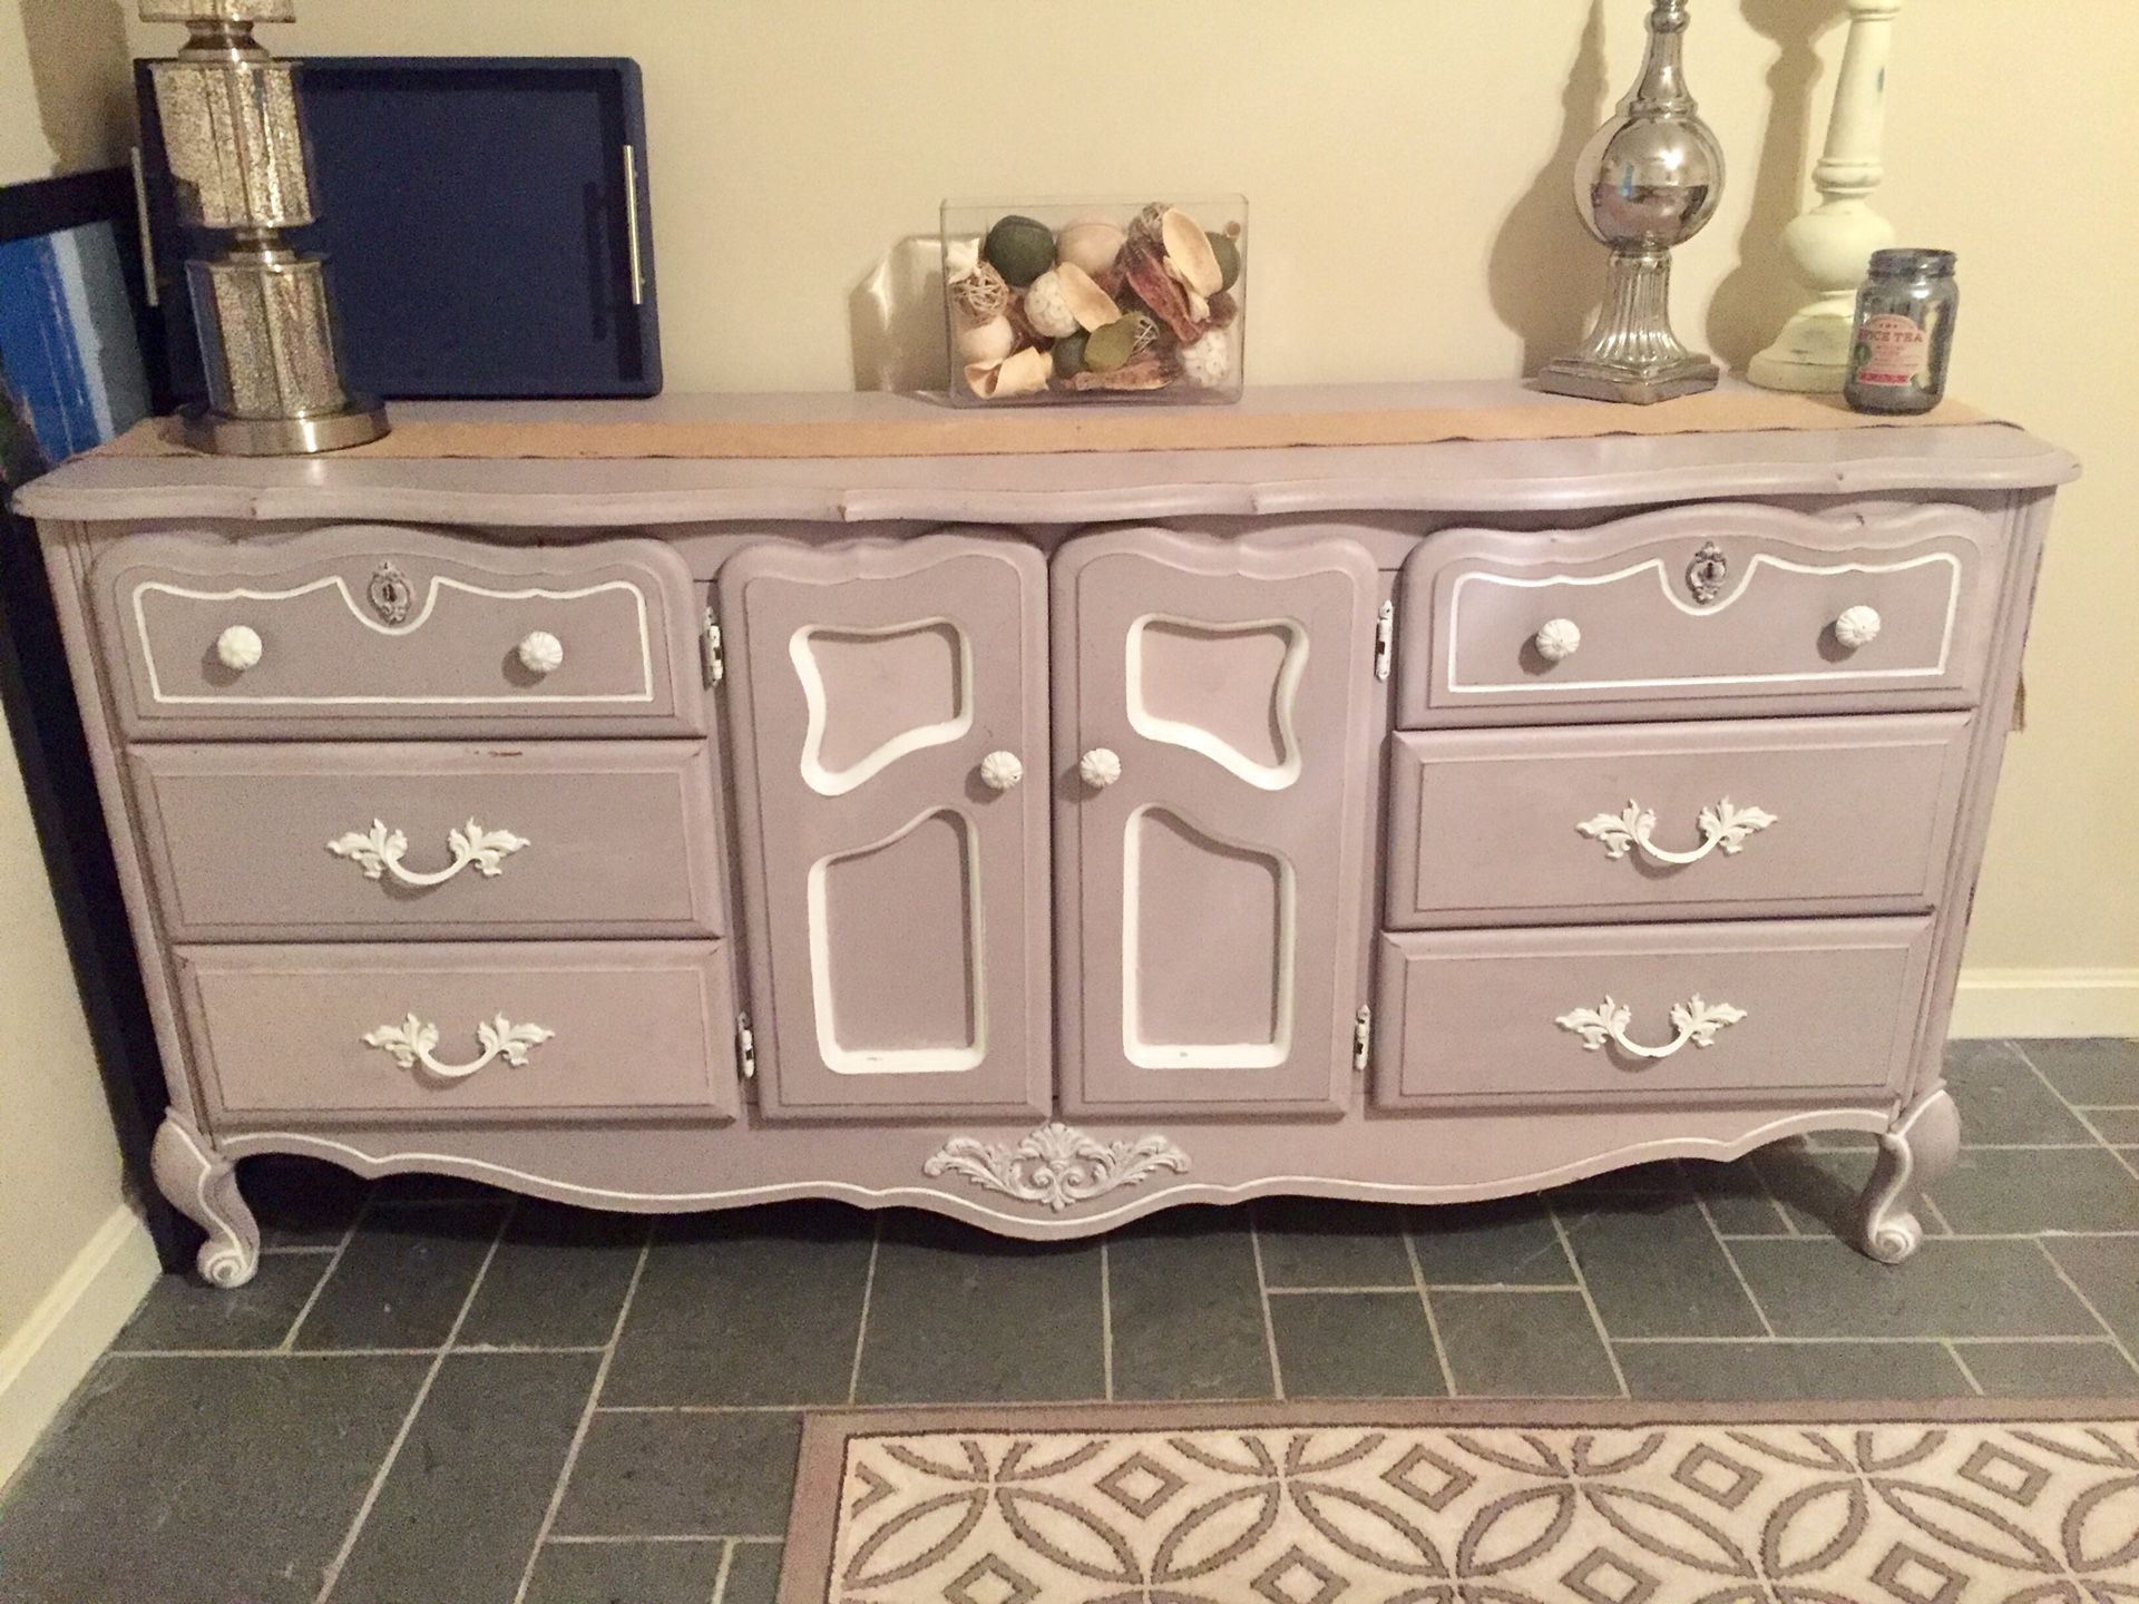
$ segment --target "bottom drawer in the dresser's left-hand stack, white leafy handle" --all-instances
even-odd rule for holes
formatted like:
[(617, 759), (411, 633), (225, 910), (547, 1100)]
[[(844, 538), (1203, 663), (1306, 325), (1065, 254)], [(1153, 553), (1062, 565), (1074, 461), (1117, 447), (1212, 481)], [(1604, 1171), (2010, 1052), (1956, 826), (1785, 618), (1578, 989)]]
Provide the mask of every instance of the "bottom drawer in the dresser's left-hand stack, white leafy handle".
[(178, 980), (222, 1127), (736, 1114), (712, 941), (180, 947)]

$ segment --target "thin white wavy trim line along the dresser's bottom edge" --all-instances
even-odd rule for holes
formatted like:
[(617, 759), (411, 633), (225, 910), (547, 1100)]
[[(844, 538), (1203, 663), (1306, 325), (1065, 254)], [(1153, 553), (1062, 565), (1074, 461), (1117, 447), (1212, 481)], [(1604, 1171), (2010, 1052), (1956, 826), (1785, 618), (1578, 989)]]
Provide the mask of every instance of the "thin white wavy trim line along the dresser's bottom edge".
[[(1262, 1198), (1273, 1193), (1301, 1193), (1313, 1198), (1369, 1198), (1380, 1202), (1480, 1202), (1487, 1198), (1512, 1198), (1527, 1191), (1542, 1191), (1546, 1187), (1559, 1187), (1570, 1181), (1583, 1181), (1594, 1174), (1604, 1174), (1606, 1170), (1619, 1170), (1630, 1163), (1649, 1163), (1656, 1159), (1737, 1159), (1752, 1153), (1769, 1142), (1780, 1142), (1786, 1136), (1801, 1136), (1803, 1131), (1884, 1131), (1889, 1125), (1887, 1114), (1874, 1114), (1863, 1108), (1807, 1108), (1790, 1114), (1780, 1114), (1765, 1125), (1737, 1136), (1733, 1140), (1711, 1140), (1705, 1136), (1666, 1136), (1653, 1142), (1634, 1142), (1628, 1146), (1615, 1146), (1587, 1159), (1555, 1166), (1551, 1170), (1529, 1170), (1523, 1174), (1495, 1176), (1493, 1181), (1463, 1183), (1463, 1185), (1416, 1185), (1403, 1181), (1358, 1181), (1352, 1176), (1330, 1176), (1330, 1174), (1266, 1174), (1253, 1176), (1249, 1181), (1183, 1181), (1164, 1189), (1166, 1206), (1181, 1202), (1243, 1202), (1247, 1198)], [(240, 1131), (222, 1142), (225, 1157), (237, 1159), (252, 1153), (310, 1153), (314, 1157), (329, 1157), (338, 1163), (357, 1168), (368, 1176), (383, 1174), (404, 1174), (411, 1170), (428, 1170), (441, 1174), (466, 1174), (471, 1178), (494, 1181), (496, 1185), (518, 1185), (524, 1191), (535, 1191), (537, 1196), (554, 1196), (558, 1200), (586, 1200), (597, 1206), (644, 1206), (652, 1210), (680, 1210), (680, 1208), (732, 1208), (740, 1204), (757, 1202), (785, 1202), (791, 1198), (838, 1198), (845, 1202), (856, 1202), (864, 1206), (875, 1204), (909, 1204), (918, 1208), (945, 1206), (948, 1213), (969, 1215), (980, 1219), (995, 1219), (1012, 1228), (1033, 1230), (1035, 1223), (1046, 1225), (1046, 1221), (1033, 1221), (1029, 1213), (1014, 1215), (1003, 1208), (990, 1208), (986, 1202), (975, 1200), (971, 1193), (943, 1191), (939, 1187), (864, 1187), (853, 1181), (776, 1181), (761, 1187), (729, 1187), (725, 1191), (629, 1191), (625, 1187), (584, 1187), (578, 1181), (558, 1181), (554, 1176), (535, 1174), (530, 1170), (515, 1170), (509, 1163), (492, 1163), (490, 1159), (471, 1159), (458, 1153), (428, 1153), (428, 1151), (398, 1151), (398, 1153), (366, 1153), (349, 1142), (338, 1142), (329, 1136), (314, 1136), (308, 1131)], [(1087, 1234), (1099, 1232), (1108, 1225), (1136, 1215), (1149, 1213), (1159, 1206), (1159, 1196), (1132, 1198), (1127, 1202), (1114, 1204), (1112, 1208), (1097, 1208), (1089, 1215), (1078, 1215), (1074, 1221), (1063, 1221), (1059, 1234)], [(1055, 1234), (1055, 1232), (1035, 1232)]]

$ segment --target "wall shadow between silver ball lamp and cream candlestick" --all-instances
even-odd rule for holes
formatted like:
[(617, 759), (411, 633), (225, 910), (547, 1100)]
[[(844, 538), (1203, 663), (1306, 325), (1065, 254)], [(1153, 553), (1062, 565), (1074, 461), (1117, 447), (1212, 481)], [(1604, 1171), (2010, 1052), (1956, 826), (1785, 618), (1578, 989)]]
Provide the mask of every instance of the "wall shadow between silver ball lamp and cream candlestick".
[(1735, 173), (1752, 184), (1752, 214), (1739, 235), (1739, 263), (1709, 302), (1709, 344), (1715, 359), (1743, 370), (1805, 299), (1782, 255), (1782, 231), (1805, 195), (1805, 152), (1825, 139), (1814, 130), (1812, 88), (1820, 77), (1818, 36), (1842, 17), (1840, 0), (1739, 0), (1745, 21), (1775, 41), (1767, 68), (1767, 133), (1760, 163)]

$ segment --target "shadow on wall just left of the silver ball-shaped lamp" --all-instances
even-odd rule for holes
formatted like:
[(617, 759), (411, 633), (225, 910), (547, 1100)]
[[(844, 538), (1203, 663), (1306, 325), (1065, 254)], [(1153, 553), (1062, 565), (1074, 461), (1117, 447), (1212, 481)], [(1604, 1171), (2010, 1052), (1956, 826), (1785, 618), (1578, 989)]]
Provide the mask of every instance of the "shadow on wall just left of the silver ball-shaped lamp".
[[(1489, 261), (1493, 310), (1523, 338), (1525, 374), (1574, 349), (1604, 293), (1604, 257), (1574, 214), (1574, 158), (1609, 105), (1604, 0), (1589, 0), (1574, 68), (1559, 96), (1559, 143), (1499, 225)], [(1570, 282), (1576, 276), (1579, 289)]]

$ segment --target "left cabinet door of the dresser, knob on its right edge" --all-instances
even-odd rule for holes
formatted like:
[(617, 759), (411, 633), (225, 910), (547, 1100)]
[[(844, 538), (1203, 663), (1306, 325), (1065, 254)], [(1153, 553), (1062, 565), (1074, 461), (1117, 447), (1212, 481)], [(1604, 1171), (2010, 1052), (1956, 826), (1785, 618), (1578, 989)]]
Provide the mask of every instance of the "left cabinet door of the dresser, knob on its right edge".
[(1040, 554), (755, 545), (719, 592), (759, 1110), (1044, 1112)]

